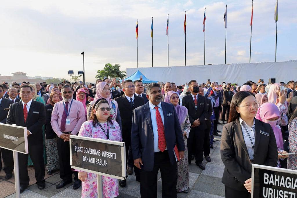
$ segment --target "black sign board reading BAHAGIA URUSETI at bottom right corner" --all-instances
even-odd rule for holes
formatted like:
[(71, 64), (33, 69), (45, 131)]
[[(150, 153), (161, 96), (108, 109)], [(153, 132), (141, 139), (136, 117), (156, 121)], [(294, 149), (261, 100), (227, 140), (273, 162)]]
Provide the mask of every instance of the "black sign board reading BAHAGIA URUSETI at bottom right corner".
[(252, 164), (252, 197), (296, 198), (297, 171)]

